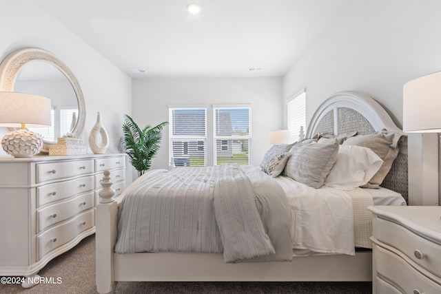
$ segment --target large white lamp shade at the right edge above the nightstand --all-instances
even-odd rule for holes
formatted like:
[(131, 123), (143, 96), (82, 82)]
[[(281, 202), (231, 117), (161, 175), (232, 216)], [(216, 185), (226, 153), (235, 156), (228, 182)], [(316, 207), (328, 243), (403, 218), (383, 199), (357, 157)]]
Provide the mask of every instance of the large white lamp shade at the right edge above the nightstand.
[(441, 132), (441, 72), (416, 78), (403, 87), (404, 132)]

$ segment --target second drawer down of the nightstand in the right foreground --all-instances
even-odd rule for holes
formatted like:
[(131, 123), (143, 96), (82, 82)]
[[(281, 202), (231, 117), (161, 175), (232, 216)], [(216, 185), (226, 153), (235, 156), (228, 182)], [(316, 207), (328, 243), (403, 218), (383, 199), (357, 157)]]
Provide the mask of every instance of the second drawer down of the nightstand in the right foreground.
[[(404, 293), (441, 293), (441, 284), (414, 269), (396, 253), (378, 244), (373, 244), (373, 251), (378, 275)], [(415, 290), (419, 292), (414, 292)]]

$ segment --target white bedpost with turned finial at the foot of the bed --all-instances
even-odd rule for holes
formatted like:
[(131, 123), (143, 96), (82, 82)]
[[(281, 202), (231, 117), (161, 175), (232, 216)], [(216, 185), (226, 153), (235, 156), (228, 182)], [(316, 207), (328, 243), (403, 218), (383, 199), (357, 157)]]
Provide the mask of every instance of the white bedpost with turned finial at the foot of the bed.
[(115, 191), (110, 181), (110, 171), (104, 171), (103, 188), (99, 191), (99, 204), (96, 205), (96, 291), (110, 293), (115, 291), (114, 246), (117, 236), (118, 203), (112, 198)]

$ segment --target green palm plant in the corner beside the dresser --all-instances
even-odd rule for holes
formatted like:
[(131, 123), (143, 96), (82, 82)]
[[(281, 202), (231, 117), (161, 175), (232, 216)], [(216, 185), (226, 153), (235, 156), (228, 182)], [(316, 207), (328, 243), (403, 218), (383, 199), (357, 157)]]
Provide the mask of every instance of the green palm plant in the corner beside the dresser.
[(161, 131), (167, 123), (165, 121), (155, 127), (146, 125), (141, 129), (133, 118), (125, 115), (123, 123), (124, 149), (130, 158), (130, 163), (138, 171), (138, 176), (142, 176), (145, 171), (150, 169), (152, 159), (160, 147)]

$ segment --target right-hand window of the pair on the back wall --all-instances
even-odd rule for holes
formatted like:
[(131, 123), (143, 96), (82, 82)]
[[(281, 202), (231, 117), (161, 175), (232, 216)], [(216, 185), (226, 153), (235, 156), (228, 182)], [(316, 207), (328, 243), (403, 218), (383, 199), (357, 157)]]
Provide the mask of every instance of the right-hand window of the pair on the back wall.
[(249, 165), (251, 108), (214, 105), (214, 165)]

